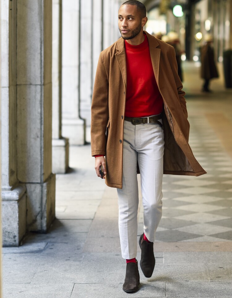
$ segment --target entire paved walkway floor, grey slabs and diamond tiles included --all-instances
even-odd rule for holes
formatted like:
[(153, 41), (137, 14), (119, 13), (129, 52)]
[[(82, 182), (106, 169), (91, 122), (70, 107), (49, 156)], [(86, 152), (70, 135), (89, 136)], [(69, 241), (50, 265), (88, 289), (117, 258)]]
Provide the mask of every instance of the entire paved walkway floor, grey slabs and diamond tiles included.
[[(116, 189), (96, 177), (90, 145), (71, 147), (71, 169), (57, 175), (49, 233), (3, 248), (3, 298), (232, 297), (232, 93), (221, 80), (213, 94), (201, 93), (198, 71), (186, 64), (184, 85), (190, 144), (208, 174), (164, 176), (153, 276), (139, 268), (139, 291), (122, 291)], [(140, 200), (138, 238), (142, 214)]]

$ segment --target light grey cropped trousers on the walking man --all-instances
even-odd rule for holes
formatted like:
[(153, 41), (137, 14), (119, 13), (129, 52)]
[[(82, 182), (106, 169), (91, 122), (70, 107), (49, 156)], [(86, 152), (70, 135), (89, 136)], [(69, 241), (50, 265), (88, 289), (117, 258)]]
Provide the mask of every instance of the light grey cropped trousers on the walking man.
[(163, 154), (164, 132), (158, 124), (124, 122), (122, 189), (117, 188), (118, 227), (124, 259), (132, 259), (137, 254), (137, 160), (141, 175), (144, 233), (153, 242), (162, 216)]

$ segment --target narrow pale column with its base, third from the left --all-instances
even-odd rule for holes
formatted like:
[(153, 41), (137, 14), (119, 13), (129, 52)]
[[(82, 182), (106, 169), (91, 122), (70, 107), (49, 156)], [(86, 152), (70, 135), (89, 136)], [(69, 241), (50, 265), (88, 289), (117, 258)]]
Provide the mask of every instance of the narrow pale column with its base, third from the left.
[(69, 143), (62, 137), (62, 0), (52, 0), (52, 171), (68, 169)]

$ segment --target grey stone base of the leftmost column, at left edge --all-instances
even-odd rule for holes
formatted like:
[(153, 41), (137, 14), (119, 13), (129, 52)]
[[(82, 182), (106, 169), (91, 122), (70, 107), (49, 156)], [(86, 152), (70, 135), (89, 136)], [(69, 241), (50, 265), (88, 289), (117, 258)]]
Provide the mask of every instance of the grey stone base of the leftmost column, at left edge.
[(2, 191), (2, 245), (19, 246), (26, 233), (26, 187)]

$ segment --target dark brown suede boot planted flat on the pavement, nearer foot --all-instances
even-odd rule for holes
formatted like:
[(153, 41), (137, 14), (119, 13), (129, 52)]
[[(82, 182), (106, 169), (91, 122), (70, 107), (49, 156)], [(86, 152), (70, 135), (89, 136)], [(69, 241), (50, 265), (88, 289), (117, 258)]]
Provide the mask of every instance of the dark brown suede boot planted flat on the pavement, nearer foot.
[(122, 286), (124, 292), (130, 293), (135, 292), (139, 289), (140, 275), (138, 269), (138, 262), (127, 263), (125, 282)]

